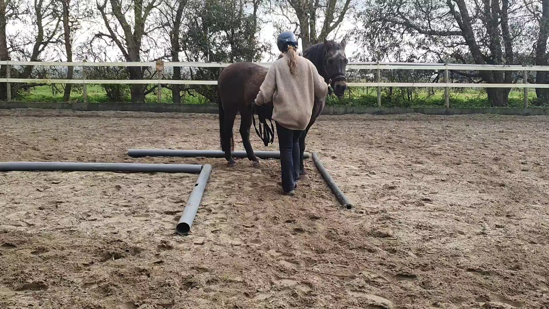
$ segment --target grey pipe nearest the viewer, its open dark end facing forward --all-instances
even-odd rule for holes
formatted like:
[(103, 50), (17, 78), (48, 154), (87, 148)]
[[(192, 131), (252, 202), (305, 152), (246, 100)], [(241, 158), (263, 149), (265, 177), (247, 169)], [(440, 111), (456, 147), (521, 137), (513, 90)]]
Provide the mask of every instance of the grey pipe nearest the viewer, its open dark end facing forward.
[(202, 171), (200, 172), (200, 175), (198, 175), (197, 182), (194, 184), (194, 189), (189, 196), (187, 206), (185, 206), (183, 214), (176, 225), (175, 229), (178, 234), (184, 235), (191, 231), (194, 217), (197, 215), (198, 206), (200, 206), (200, 201), (202, 201), (202, 195), (204, 194), (206, 183), (208, 183), (208, 178), (210, 177), (210, 172), (210, 164), (202, 165)]

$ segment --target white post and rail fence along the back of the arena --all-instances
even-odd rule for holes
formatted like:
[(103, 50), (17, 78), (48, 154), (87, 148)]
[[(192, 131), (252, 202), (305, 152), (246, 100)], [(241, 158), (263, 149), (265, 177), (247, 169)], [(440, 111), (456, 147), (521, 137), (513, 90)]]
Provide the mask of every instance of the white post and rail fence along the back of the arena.
[[(0, 61), (0, 65), (7, 65), (6, 78), (0, 82), (7, 84), (7, 100), (11, 100), (12, 82), (18, 83), (41, 83), (41, 84), (82, 84), (83, 99), (87, 102), (87, 84), (158, 84), (158, 102), (161, 102), (161, 84), (168, 85), (217, 85), (215, 80), (164, 80), (162, 79), (164, 68), (167, 67), (189, 67), (189, 68), (224, 68), (230, 63), (202, 63), (202, 62), (22, 62), (22, 61)], [(258, 63), (269, 67), (270, 63)], [(81, 67), (82, 79), (32, 79), (32, 78), (11, 78), (10, 66), (12, 65), (33, 65), (43, 67)], [(103, 80), (87, 79), (87, 67), (151, 67), (156, 70), (157, 79), (148, 80)], [(352, 70), (375, 70), (375, 82), (348, 82), (349, 87), (376, 87), (377, 105), (381, 107), (382, 87), (437, 87), (444, 88), (445, 105), (450, 107), (450, 88), (522, 88), (524, 89), (524, 108), (528, 108), (529, 88), (549, 88), (549, 84), (528, 84), (528, 71), (549, 71), (549, 66), (522, 66), (522, 65), (485, 65), (485, 64), (444, 64), (444, 63), (349, 63), (347, 69)], [(382, 82), (380, 70), (444, 70), (444, 82)], [(519, 71), (523, 75), (523, 83), (519, 84), (489, 84), (489, 83), (456, 83), (449, 82), (449, 71), (451, 70), (474, 70), (474, 71)]]

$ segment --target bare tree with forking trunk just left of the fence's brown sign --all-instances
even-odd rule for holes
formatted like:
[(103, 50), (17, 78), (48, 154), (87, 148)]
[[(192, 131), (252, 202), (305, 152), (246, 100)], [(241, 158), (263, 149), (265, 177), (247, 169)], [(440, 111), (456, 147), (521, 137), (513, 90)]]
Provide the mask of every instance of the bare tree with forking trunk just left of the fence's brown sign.
[[(127, 62), (141, 62), (144, 36), (152, 34), (152, 32), (159, 28), (159, 26), (147, 27), (147, 19), (156, 7), (157, 0), (150, 0), (148, 3), (145, 3), (143, 0), (133, 0), (132, 3), (125, 6), (122, 6), (122, 0), (110, 0), (110, 12), (107, 11), (107, 1), (96, 3), (108, 34), (99, 32), (96, 34), (96, 37), (109, 38), (115, 42)], [(132, 23), (128, 23), (126, 19), (126, 12), (130, 9), (133, 9)], [(114, 15), (115, 20), (110, 19), (111, 14)], [(121, 34), (116, 31), (119, 27), (122, 29)], [(146, 68), (128, 67), (127, 70), (130, 79), (138, 80), (143, 79)], [(144, 102), (145, 95), (152, 92), (155, 87), (153, 86), (152, 89), (147, 90), (146, 85), (132, 84), (132, 102)]]

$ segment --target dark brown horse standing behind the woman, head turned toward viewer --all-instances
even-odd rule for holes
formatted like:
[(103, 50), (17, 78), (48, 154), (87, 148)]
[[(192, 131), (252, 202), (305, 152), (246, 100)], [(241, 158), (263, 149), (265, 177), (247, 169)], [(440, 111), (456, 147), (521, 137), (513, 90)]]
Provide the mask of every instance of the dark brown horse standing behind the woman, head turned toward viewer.
[[(322, 75), (324, 81), (332, 86), (332, 89), (338, 97), (342, 97), (347, 88), (345, 82), (345, 69), (347, 57), (345, 56), (345, 40), (341, 43), (334, 41), (324, 41), (311, 46), (304, 52), (304, 57), (309, 59)], [(219, 135), (221, 141), (221, 150), (225, 151), (225, 158), (230, 167), (236, 165), (231, 151), (234, 150), (233, 125), (234, 119), (240, 112), (240, 135), (248, 159), (259, 164), (259, 159), (254, 154), (254, 149), (250, 144), (250, 126), (253, 121), (254, 112), (251, 104), (254, 102), (259, 87), (265, 80), (267, 68), (250, 62), (233, 63), (223, 69), (217, 80), (217, 98), (219, 103)], [(305, 151), (305, 136), (315, 123), (316, 118), (320, 116), (324, 109), (326, 98), (315, 98), (311, 121), (305, 129), (305, 134), (301, 135), (299, 147), (301, 151), (301, 174), (305, 174), (303, 165), (303, 152)], [(271, 114), (272, 114), (272, 106)]]

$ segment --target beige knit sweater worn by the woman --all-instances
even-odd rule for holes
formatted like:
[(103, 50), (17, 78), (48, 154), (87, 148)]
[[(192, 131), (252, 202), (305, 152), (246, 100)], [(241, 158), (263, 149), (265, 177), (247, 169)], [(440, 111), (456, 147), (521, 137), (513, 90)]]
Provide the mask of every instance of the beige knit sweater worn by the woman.
[(292, 75), (286, 57), (269, 68), (255, 104), (272, 102), (273, 120), (290, 130), (305, 130), (311, 120), (315, 97), (326, 97), (328, 85), (315, 65), (300, 56), (295, 57), (297, 69)]

